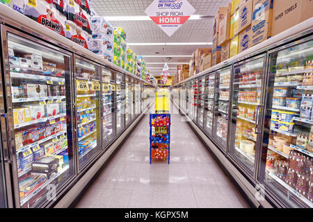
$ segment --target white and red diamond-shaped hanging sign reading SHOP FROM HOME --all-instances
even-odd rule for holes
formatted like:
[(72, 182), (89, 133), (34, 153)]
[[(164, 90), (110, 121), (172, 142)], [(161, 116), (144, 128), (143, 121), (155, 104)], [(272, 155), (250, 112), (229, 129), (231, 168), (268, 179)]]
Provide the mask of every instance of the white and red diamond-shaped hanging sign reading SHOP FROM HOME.
[(172, 36), (194, 12), (195, 8), (187, 0), (154, 0), (145, 10), (168, 36)]

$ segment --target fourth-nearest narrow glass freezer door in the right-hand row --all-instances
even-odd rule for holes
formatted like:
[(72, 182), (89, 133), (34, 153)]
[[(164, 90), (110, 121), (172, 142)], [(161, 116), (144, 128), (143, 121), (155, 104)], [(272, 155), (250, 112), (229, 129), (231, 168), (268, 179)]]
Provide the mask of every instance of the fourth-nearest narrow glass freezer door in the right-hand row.
[(214, 116), (215, 73), (205, 76), (204, 130), (212, 135)]

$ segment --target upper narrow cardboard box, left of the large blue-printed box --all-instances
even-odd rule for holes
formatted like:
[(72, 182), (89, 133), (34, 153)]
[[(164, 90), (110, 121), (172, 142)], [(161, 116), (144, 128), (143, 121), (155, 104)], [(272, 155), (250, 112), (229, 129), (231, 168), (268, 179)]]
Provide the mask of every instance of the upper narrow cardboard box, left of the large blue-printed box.
[(239, 5), (239, 33), (251, 25), (253, 0), (240, 0)]

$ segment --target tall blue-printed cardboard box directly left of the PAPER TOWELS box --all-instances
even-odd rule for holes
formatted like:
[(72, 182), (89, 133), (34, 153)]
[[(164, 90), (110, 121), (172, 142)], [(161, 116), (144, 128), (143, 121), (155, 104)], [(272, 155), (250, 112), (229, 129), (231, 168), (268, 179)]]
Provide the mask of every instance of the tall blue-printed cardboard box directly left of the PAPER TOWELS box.
[(251, 46), (271, 37), (272, 17), (273, 0), (253, 0)]

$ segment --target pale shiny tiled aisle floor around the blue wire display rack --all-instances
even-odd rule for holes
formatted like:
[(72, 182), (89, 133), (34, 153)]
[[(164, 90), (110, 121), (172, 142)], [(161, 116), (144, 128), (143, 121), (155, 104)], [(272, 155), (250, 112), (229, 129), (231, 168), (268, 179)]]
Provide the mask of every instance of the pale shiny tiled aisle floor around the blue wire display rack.
[(148, 137), (147, 114), (76, 207), (249, 207), (180, 114), (172, 114), (170, 165), (150, 165)]

